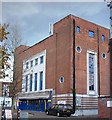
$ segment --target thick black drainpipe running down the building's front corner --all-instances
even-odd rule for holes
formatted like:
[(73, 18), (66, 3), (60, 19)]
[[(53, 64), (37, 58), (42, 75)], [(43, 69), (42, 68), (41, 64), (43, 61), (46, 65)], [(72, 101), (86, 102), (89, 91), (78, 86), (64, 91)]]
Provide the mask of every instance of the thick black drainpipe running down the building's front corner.
[(72, 67), (73, 67), (73, 110), (75, 113), (76, 110), (76, 91), (75, 91), (75, 20), (73, 19), (73, 58), (72, 58)]

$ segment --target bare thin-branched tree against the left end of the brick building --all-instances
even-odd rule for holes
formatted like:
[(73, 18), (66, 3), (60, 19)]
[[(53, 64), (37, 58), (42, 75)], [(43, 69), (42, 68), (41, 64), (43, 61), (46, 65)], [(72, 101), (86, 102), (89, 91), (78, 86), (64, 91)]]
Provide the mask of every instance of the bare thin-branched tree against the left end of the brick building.
[[(20, 92), (20, 88), (18, 88), (18, 79), (21, 79), (21, 71), (19, 71), (18, 67), (21, 67), (21, 65), (17, 65), (15, 62), (17, 60), (19, 60), (20, 58), (16, 57), (16, 53), (15, 50), (18, 46), (23, 45), (25, 43), (23, 43), (22, 40), (22, 34), (21, 34), (21, 29), (19, 25), (9, 25), (8, 30), (10, 32), (10, 34), (8, 35), (8, 39), (5, 41), (5, 45), (7, 46), (8, 52), (10, 53), (11, 57), (10, 57), (10, 61), (9, 63), (11, 63), (11, 67), (10, 69), (13, 72), (13, 76), (12, 76), (12, 84), (10, 85), (10, 94), (12, 97), (12, 110), (14, 110), (14, 104), (16, 101), (16, 94), (18, 92)], [(16, 60), (16, 61), (15, 61)], [(19, 81), (21, 82), (21, 80)], [(19, 83), (21, 84), (21, 83)]]

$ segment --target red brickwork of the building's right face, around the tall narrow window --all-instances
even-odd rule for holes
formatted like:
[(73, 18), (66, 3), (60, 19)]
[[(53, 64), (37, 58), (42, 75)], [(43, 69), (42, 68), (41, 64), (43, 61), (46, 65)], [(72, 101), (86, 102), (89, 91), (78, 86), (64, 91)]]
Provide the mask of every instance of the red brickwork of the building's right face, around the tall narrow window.
[[(78, 17), (73, 18), (75, 19), (75, 26), (80, 26), (81, 29), (80, 33), (75, 33), (75, 46), (80, 46), (82, 48), (81, 53), (75, 52), (76, 92), (83, 94), (87, 93), (87, 50), (97, 52), (98, 57), (99, 39), (100, 93), (103, 95), (109, 95), (109, 30)], [(94, 38), (88, 36), (89, 30), (95, 32)], [(102, 34), (105, 35), (104, 42), (101, 39)], [(106, 53), (106, 59), (102, 59), (103, 52)]]

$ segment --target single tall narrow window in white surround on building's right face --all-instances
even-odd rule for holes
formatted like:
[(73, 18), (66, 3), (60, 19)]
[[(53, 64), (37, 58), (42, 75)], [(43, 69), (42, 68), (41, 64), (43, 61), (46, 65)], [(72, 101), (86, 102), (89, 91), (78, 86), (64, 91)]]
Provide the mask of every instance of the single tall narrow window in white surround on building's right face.
[(87, 92), (88, 94), (97, 95), (97, 53), (87, 51)]

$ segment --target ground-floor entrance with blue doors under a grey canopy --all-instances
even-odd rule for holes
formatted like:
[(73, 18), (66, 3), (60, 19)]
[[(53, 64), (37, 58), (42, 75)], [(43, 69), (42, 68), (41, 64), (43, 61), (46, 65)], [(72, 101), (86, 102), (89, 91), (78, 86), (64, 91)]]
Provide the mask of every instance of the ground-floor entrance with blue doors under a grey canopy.
[(17, 108), (21, 110), (45, 111), (52, 104), (52, 91), (21, 93), (18, 95)]

